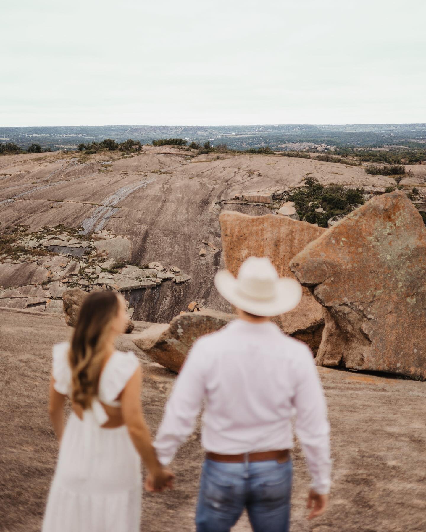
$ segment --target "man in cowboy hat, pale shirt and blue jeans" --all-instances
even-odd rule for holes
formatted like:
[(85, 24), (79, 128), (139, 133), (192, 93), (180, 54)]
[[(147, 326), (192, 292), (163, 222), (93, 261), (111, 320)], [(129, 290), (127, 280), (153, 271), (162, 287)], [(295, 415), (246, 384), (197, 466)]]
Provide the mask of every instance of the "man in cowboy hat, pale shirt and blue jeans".
[(295, 279), (278, 278), (266, 257), (247, 259), (237, 279), (219, 271), (215, 285), (238, 319), (193, 345), (154, 445), (168, 464), (194, 430), (204, 400), (207, 454), (196, 529), (228, 531), (246, 508), (256, 532), (285, 532), (294, 414), (313, 480), (309, 519), (324, 513), (330, 488), (329, 424), (312, 353), (269, 320), (294, 309), (302, 289)]

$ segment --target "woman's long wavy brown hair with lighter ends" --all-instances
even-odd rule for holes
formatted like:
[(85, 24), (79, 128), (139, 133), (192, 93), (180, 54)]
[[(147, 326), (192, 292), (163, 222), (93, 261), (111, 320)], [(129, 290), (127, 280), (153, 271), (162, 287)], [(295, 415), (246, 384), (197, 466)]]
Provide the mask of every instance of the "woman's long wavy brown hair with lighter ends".
[(119, 302), (112, 290), (92, 292), (84, 298), (69, 350), (72, 401), (89, 408), (97, 394), (108, 325), (117, 316)]

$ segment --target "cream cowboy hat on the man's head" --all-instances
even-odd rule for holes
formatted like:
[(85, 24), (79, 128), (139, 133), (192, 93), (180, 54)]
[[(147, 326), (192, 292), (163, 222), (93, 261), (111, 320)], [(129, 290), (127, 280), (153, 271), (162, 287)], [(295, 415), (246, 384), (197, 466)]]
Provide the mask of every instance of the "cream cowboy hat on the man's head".
[(267, 257), (249, 257), (241, 264), (236, 279), (226, 270), (218, 271), (215, 286), (232, 305), (257, 316), (289, 312), (302, 297), (302, 287), (296, 279), (280, 279)]

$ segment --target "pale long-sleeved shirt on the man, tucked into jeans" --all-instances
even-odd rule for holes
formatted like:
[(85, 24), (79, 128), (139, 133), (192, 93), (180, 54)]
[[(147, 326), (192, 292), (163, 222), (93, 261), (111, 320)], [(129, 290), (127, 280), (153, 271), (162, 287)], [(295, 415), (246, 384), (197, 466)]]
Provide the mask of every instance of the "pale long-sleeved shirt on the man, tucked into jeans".
[(206, 451), (240, 454), (290, 449), (291, 419), (312, 487), (330, 488), (329, 423), (309, 348), (272, 322), (232, 321), (193, 345), (176, 379), (154, 446), (167, 465), (194, 430), (203, 400)]

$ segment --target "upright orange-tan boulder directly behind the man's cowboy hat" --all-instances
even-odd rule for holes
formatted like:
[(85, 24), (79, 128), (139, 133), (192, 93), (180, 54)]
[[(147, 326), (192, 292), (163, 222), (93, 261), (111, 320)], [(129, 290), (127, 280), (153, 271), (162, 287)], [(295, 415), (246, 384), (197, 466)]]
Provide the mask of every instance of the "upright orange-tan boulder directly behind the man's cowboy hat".
[[(294, 277), (289, 269), (290, 260), (326, 231), (307, 222), (274, 214), (249, 216), (224, 211), (219, 222), (225, 265), (234, 276), (248, 257), (266, 256), (280, 277)], [(324, 328), (324, 312), (307, 288), (304, 287), (296, 309), (282, 314), (275, 321), (286, 334), (306, 342), (316, 353)]]

